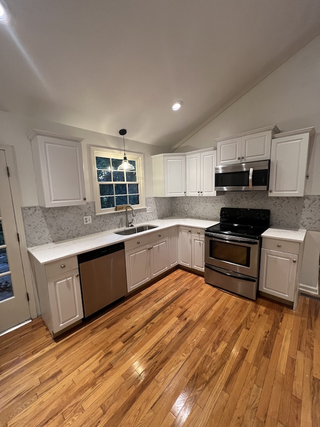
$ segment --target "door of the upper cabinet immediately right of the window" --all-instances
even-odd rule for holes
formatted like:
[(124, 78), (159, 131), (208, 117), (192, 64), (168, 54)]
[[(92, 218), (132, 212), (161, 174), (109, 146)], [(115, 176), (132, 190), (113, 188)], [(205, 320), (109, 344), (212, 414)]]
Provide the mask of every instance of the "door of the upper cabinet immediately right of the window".
[(164, 195), (185, 196), (185, 156), (164, 157)]

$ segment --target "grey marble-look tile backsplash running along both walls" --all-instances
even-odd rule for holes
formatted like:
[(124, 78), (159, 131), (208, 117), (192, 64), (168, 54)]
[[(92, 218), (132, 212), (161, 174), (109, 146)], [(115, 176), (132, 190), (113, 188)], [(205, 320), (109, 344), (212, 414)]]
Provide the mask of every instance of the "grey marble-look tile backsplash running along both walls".
[[(151, 213), (137, 210), (137, 223), (168, 216), (218, 220), (221, 207), (227, 206), (270, 209), (271, 226), (320, 231), (320, 196), (268, 197), (263, 191), (227, 192), (216, 197), (148, 197), (146, 206), (151, 206)], [(21, 210), (28, 247), (125, 226), (124, 212), (95, 215), (94, 202), (59, 208), (22, 207)], [(91, 215), (92, 223), (84, 225), (83, 216), (87, 215)]]

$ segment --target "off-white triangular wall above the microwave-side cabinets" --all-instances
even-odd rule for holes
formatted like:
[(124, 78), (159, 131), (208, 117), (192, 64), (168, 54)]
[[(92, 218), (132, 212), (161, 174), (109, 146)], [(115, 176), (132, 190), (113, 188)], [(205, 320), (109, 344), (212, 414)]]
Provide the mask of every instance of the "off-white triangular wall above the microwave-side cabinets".
[(215, 138), (277, 125), (280, 131), (314, 126), (306, 194), (320, 194), (320, 36), (233, 103), (175, 151), (216, 146)]

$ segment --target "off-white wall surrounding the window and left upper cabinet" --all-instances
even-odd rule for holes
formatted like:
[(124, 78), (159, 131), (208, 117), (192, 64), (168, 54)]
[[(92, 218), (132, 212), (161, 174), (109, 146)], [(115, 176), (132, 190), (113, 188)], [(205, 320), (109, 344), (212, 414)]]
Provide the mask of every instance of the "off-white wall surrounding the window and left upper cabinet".
[[(87, 201), (93, 201), (89, 146), (95, 145), (122, 150), (122, 138), (0, 111), (0, 144), (14, 146), (22, 193), (22, 206), (38, 205), (38, 197), (36, 193), (31, 153), (31, 143), (27, 139), (27, 135), (32, 129), (40, 129), (48, 132), (59, 133), (62, 135), (84, 138), (84, 140), (82, 141), (82, 154), (84, 166), (85, 193)], [(133, 151), (144, 154), (144, 174), (146, 177), (152, 176), (152, 163), (150, 156), (153, 154), (161, 153), (162, 149), (154, 145), (130, 141), (129, 139), (125, 139), (125, 148), (128, 152)], [(145, 196), (153, 196), (152, 180), (150, 179), (145, 179)]]

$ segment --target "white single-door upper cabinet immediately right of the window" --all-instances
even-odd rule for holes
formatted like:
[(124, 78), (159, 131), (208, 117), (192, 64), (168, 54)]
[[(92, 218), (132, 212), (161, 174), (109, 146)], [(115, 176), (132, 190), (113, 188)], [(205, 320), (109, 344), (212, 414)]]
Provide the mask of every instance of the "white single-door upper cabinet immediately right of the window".
[(157, 154), (151, 158), (154, 197), (185, 196), (185, 155)]

